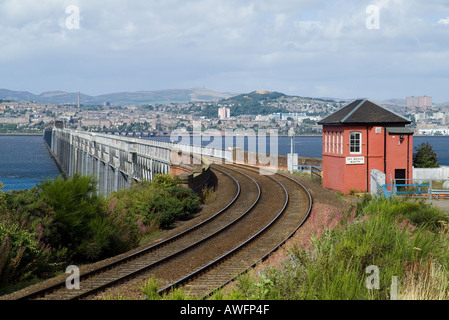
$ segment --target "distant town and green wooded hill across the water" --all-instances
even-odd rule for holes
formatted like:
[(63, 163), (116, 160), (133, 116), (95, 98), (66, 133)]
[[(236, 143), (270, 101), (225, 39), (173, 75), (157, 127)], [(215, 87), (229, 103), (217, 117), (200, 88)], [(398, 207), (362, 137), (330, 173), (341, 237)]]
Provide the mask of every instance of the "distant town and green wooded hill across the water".
[[(98, 105), (80, 102), (50, 104), (0, 100), (0, 134), (40, 134), (56, 120), (66, 127), (133, 136), (163, 136), (173, 130), (277, 129), (279, 135), (320, 135), (317, 122), (351, 100), (288, 96), (254, 91), (220, 100), (176, 103)], [(431, 97), (407, 97), (379, 103), (412, 121), (416, 135), (449, 135), (449, 104), (434, 104)]]

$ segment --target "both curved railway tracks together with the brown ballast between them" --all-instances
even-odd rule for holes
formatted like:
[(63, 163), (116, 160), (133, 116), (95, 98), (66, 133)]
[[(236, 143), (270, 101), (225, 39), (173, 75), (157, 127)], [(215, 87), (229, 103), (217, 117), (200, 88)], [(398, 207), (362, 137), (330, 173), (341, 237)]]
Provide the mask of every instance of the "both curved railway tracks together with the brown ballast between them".
[[(167, 240), (82, 274), (81, 290), (68, 290), (64, 282), (19, 299), (83, 299), (150, 274), (161, 279), (164, 288), (160, 293), (185, 286), (191, 295), (204, 297), (276, 250), (310, 213), (310, 194), (287, 176), (259, 175), (238, 165), (214, 165), (213, 169), (231, 177), (236, 186), (234, 198), (213, 216)], [(277, 201), (270, 197), (274, 194)]]

